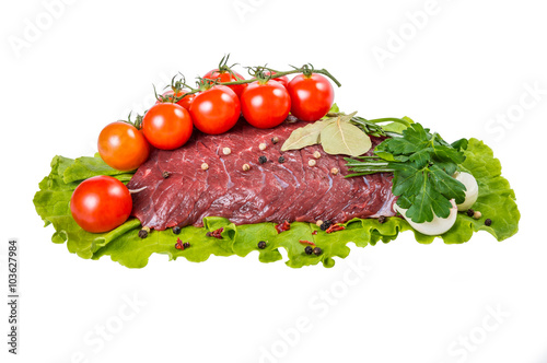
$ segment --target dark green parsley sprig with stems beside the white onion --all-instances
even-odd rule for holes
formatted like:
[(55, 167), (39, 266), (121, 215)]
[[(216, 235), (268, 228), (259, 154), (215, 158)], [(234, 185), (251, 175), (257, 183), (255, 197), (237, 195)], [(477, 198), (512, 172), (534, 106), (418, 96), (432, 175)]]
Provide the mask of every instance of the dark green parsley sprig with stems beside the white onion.
[(465, 186), (452, 175), (465, 161), (467, 140), (452, 144), (420, 124), (411, 124), (400, 137), (384, 140), (373, 156), (346, 157), (350, 172), (346, 177), (392, 172), (397, 204), (416, 223), (431, 222), (434, 215), (446, 218), (456, 203), (465, 200)]

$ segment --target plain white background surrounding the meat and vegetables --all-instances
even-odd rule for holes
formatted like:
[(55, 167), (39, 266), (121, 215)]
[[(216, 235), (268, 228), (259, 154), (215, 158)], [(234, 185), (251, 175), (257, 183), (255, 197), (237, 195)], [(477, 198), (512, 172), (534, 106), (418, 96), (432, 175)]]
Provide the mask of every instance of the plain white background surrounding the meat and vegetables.
[[(1, 304), (2, 362), (547, 361), (540, 1), (62, 4), (55, 19), (37, 0), (0, 8), (0, 290), (5, 296), (7, 242), (18, 238), (22, 296), (15, 358)], [(391, 58), (379, 61), (380, 48)], [(519, 234), (498, 243), (479, 233), (456, 246), (404, 234), (353, 246), (333, 269), (300, 270), (256, 255), (153, 256), (130, 270), (50, 243), (32, 199), (51, 157), (92, 155), (106, 124), (150, 105), (152, 83), (202, 75), (228, 52), (246, 66), (326, 68), (342, 83), (336, 102), (346, 112), (408, 115), (450, 141), (484, 139), (516, 192)], [(348, 261), (366, 268), (358, 274)], [(142, 306), (131, 309), (133, 298)]]

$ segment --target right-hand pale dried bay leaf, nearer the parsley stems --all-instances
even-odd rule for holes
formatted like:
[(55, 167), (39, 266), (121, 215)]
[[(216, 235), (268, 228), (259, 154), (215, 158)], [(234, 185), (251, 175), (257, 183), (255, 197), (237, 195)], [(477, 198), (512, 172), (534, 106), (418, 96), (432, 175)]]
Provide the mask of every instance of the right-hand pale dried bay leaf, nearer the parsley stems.
[(366, 133), (341, 117), (323, 128), (319, 139), (323, 150), (331, 155), (359, 156), (372, 147)]

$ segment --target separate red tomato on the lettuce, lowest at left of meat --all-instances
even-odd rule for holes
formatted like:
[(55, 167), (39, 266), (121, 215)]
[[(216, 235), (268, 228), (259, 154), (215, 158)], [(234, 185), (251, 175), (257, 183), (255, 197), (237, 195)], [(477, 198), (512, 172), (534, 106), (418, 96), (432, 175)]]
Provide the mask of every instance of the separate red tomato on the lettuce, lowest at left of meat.
[(124, 224), (131, 214), (127, 187), (112, 176), (94, 176), (82, 182), (70, 198), (74, 221), (88, 232), (102, 233)]

